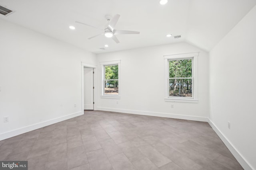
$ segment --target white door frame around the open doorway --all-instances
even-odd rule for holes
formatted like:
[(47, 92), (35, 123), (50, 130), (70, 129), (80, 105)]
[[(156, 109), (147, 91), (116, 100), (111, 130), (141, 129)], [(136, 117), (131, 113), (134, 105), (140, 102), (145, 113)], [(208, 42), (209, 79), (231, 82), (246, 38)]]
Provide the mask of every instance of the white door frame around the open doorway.
[[(84, 63), (84, 62), (81, 62), (82, 63), (82, 66), (81, 66), (81, 72), (82, 72), (82, 111), (84, 111), (84, 67), (89, 67), (89, 68), (93, 68), (94, 70), (94, 74), (93, 74), (93, 77), (94, 75), (96, 74), (96, 65), (93, 65), (93, 64), (88, 64), (88, 63)], [(96, 81), (95, 81), (95, 77), (93, 78), (93, 84), (94, 84), (94, 87), (96, 86)], [(95, 99), (95, 94), (96, 94), (96, 89), (94, 88), (94, 92), (93, 92), (93, 98)], [(95, 110), (95, 105), (93, 106), (93, 109)]]

